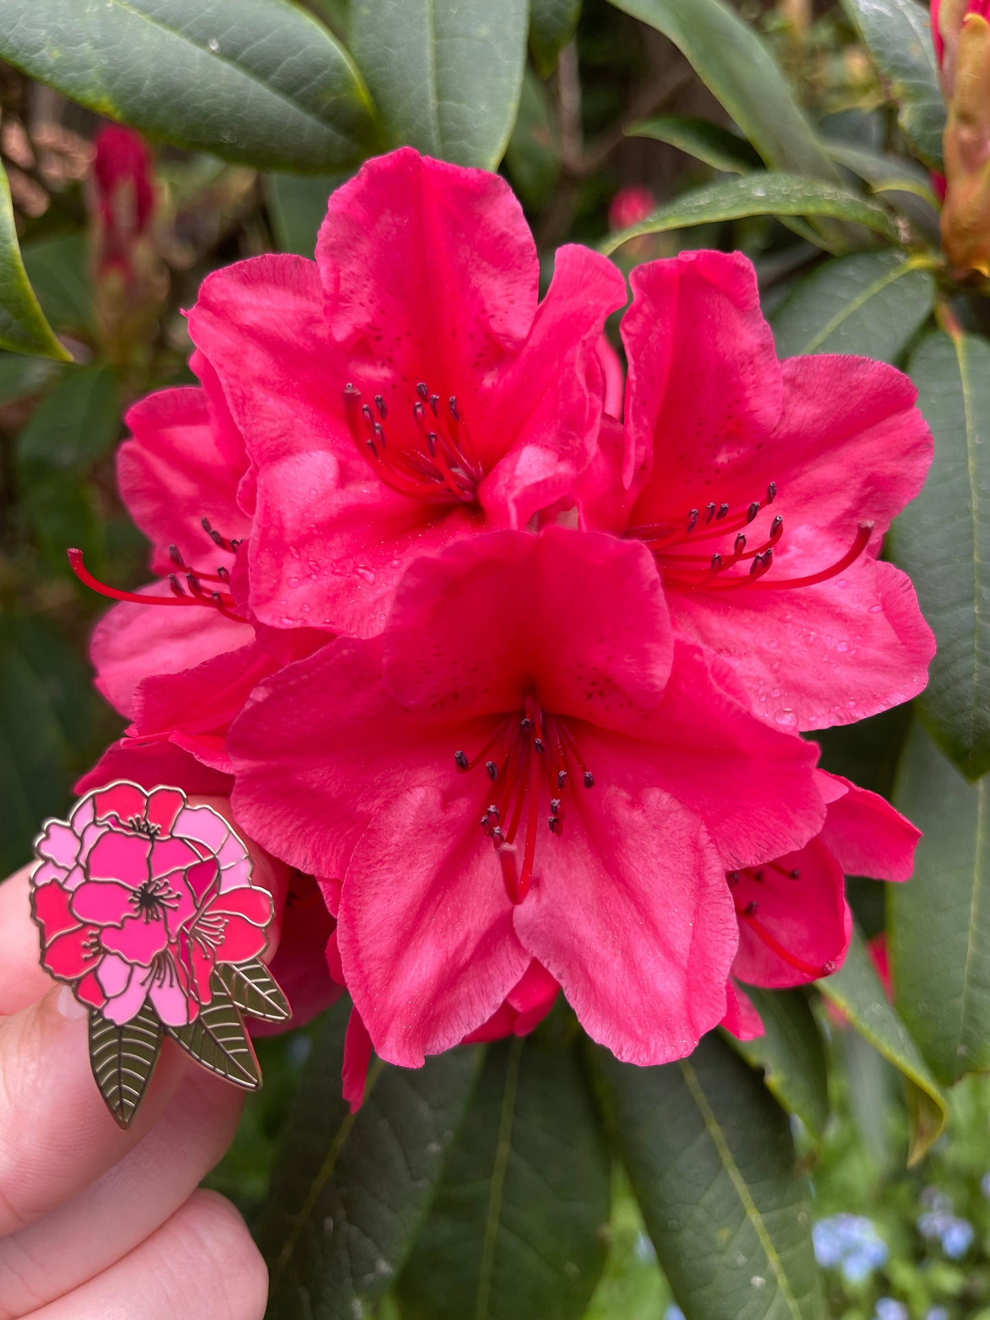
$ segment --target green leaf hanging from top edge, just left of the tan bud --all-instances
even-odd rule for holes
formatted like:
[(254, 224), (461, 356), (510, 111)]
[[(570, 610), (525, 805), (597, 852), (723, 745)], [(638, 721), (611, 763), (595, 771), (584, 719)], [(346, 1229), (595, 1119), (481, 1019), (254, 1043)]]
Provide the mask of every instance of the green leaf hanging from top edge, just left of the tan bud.
[(942, 169), (945, 104), (928, 9), (916, 0), (842, 0), (898, 103), (904, 137), (929, 169)]

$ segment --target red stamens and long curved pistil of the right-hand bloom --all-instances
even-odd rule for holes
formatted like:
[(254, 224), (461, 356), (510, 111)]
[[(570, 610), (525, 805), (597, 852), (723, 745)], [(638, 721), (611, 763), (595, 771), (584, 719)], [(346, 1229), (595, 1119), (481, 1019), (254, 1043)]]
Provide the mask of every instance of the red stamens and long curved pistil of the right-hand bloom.
[[(692, 508), (680, 527), (651, 524), (631, 528), (628, 535), (643, 541), (653, 552), (663, 570), (664, 582), (684, 591), (785, 591), (792, 587), (814, 586), (826, 582), (854, 564), (870, 541), (873, 523), (861, 523), (853, 544), (834, 564), (804, 577), (770, 577), (774, 550), (784, 535), (784, 519), (776, 513), (762, 536), (747, 537), (743, 528), (759, 517), (776, 499), (776, 482), (767, 494), (754, 500), (744, 511), (733, 512), (729, 503), (709, 502), (704, 510)], [(733, 536), (731, 549), (727, 537)], [(711, 554), (696, 553), (705, 541), (722, 540), (723, 545)], [(751, 544), (755, 541), (756, 544)]]

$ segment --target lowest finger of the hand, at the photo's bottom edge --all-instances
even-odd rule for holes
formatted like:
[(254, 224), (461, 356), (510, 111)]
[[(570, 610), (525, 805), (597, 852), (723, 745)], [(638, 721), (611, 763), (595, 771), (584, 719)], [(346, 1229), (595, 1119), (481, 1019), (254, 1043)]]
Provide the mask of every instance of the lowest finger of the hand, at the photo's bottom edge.
[(267, 1296), (242, 1217), (216, 1192), (194, 1192), (123, 1261), (30, 1320), (263, 1320)]

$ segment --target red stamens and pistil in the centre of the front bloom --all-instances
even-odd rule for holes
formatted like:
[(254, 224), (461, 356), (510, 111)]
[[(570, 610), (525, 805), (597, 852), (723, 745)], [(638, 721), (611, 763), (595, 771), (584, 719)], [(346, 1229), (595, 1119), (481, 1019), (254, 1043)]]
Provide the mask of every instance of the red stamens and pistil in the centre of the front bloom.
[[(527, 697), (521, 711), (499, 719), (491, 738), (474, 756), (454, 752), (462, 774), (482, 763), (495, 785), (486, 795), (487, 807), (480, 825), (491, 838), (506, 892), (521, 903), (529, 892), (540, 826), (540, 803), (549, 800), (546, 825), (552, 834), (564, 833), (566, 796), (581, 783), (594, 788), (594, 775), (581, 758), (566, 719), (541, 710), (535, 697)], [(523, 832), (521, 862), (519, 834)]]

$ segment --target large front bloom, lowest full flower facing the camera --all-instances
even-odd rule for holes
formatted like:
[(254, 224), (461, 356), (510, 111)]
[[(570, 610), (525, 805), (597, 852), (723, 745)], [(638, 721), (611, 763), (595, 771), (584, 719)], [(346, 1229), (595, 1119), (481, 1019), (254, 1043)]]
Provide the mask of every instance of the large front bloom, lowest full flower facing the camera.
[(253, 837), (343, 876), (342, 973), (407, 1065), (533, 958), (619, 1057), (689, 1052), (725, 1012), (725, 871), (825, 816), (816, 748), (675, 643), (648, 550), (558, 527), (416, 561), (383, 635), (265, 680), (228, 747)]

